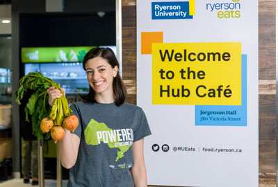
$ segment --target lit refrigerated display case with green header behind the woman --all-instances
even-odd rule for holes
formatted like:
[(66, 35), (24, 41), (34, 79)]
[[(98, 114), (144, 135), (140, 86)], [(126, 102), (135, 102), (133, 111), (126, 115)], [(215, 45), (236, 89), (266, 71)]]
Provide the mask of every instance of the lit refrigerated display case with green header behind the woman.
[(83, 69), (85, 53), (95, 46), (22, 48), (24, 75), (40, 72), (66, 90), (68, 103), (86, 94), (89, 84)]

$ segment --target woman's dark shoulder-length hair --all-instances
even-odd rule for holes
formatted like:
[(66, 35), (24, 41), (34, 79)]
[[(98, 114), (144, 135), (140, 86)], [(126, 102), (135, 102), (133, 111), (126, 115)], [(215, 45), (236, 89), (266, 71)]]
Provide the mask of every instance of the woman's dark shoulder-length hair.
[[(83, 69), (85, 70), (85, 64), (88, 60), (94, 57), (104, 58), (111, 66), (114, 68), (117, 66), (119, 68), (119, 62), (111, 48), (92, 48), (88, 53), (85, 54), (83, 59)], [(124, 82), (120, 77), (119, 71), (117, 72), (116, 77), (113, 79), (113, 94), (115, 96), (115, 105), (120, 106), (124, 103), (126, 99), (126, 87)], [(85, 100), (86, 103), (97, 103), (95, 100), (95, 90), (90, 87), (89, 93), (87, 95), (81, 95), (81, 98)]]

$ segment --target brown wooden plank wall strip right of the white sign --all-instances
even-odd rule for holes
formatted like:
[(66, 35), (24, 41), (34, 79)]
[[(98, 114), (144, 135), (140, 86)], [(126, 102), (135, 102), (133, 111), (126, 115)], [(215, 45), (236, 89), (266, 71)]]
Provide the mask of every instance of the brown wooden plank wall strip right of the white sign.
[(275, 0), (259, 1), (259, 186), (276, 187)]

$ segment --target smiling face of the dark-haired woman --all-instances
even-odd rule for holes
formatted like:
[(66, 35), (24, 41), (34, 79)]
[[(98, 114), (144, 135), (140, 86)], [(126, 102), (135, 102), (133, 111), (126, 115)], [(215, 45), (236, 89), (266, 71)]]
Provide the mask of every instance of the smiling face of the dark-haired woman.
[(87, 79), (97, 94), (113, 94), (113, 78), (117, 75), (118, 67), (112, 66), (103, 57), (94, 57), (85, 64)]

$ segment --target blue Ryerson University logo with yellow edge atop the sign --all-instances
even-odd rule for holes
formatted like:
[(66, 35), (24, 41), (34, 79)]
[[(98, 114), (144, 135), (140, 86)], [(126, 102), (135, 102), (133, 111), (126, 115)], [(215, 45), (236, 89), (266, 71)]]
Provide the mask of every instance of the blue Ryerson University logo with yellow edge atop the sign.
[[(191, 1), (191, 0), (190, 0)], [(152, 2), (152, 19), (193, 19), (194, 1)]]

